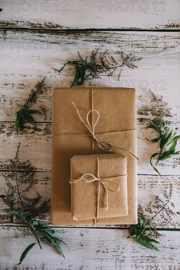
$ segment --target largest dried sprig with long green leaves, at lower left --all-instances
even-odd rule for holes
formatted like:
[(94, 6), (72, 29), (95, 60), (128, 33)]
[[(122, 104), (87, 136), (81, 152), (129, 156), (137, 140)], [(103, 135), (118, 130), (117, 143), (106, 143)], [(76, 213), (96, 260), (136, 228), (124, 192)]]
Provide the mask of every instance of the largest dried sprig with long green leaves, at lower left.
[[(64, 258), (60, 244), (57, 243), (57, 241), (60, 241), (60, 243), (64, 242), (52, 235), (55, 233), (55, 230), (49, 226), (41, 225), (37, 219), (38, 216), (48, 212), (50, 209), (50, 200), (41, 202), (41, 196), (38, 192), (35, 198), (28, 196), (27, 193), (32, 188), (34, 182), (37, 181), (34, 179), (35, 168), (31, 166), (28, 160), (21, 162), (19, 153), (20, 143), (17, 145), (15, 158), (10, 159), (9, 164), (3, 164), (4, 169), (10, 171), (2, 173), (6, 188), (4, 189), (4, 195), (0, 195), (0, 197), (8, 205), (10, 210), (10, 212), (8, 212), (9, 215), (17, 216), (25, 221), (28, 231), (30, 230), (29, 232), (34, 235), (41, 249), (41, 242), (49, 243), (58, 249)], [(42, 237), (39, 238), (39, 236)], [(35, 244), (36, 243), (31, 243), (25, 249), (18, 265), (23, 262), (26, 255)]]

